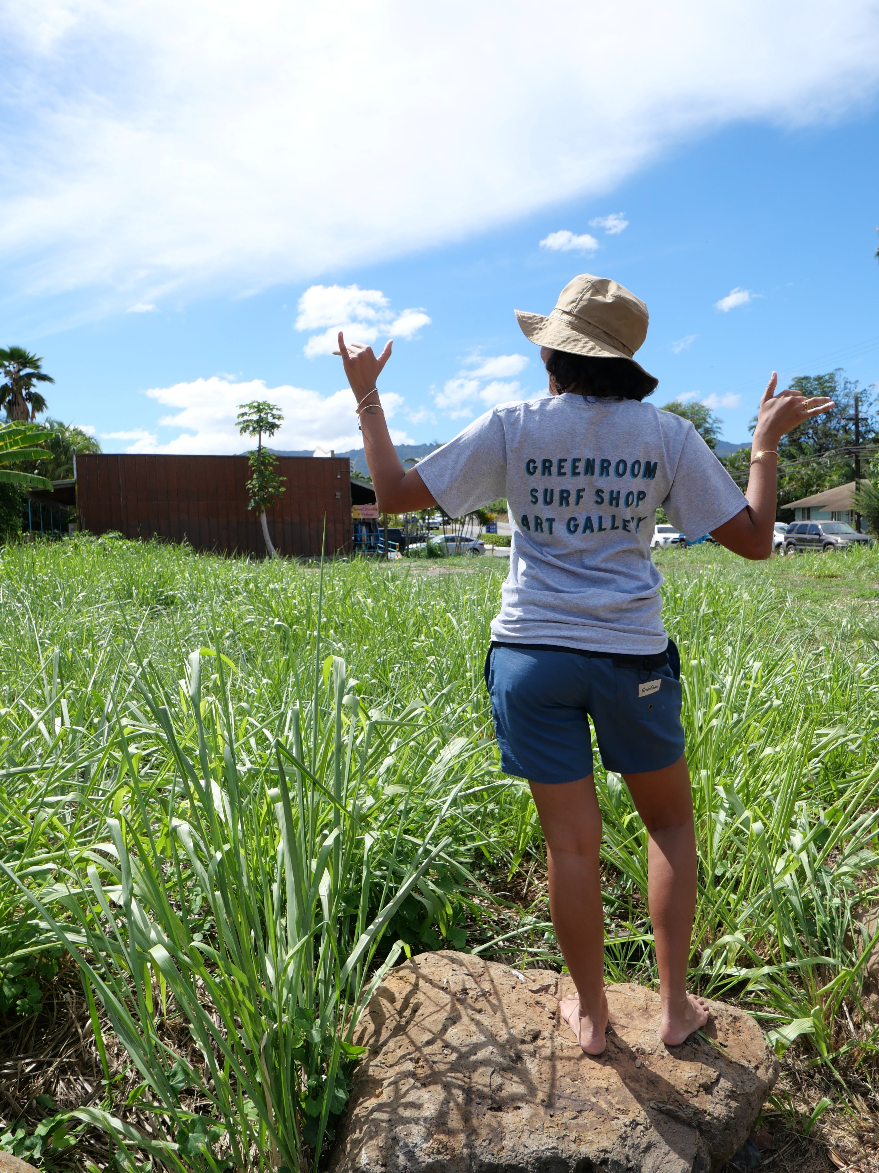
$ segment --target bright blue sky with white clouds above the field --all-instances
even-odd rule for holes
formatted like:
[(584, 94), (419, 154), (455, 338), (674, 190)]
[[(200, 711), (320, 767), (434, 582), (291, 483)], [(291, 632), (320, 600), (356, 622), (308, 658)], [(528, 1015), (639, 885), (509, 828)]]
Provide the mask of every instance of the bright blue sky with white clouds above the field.
[[(400, 30), (402, 9), (379, 7), (417, 65), (423, 30)], [(529, 57), (532, 9), (519, 27), (516, 4), (506, 54), (483, 69), (507, 87), (509, 109), (463, 74), (447, 97), (456, 57), (440, 38), (415, 122), (411, 72), (386, 79), (376, 109), (361, 111), (369, 97), (355, 82), (368, 70), (352, 66), (354, 49), (329, 49), (346, 110), (338, 150), (307, 122), (278, 129), (293, 99), (284, 70), (265, 65), (272, 36), (323, 43), (319, 21), (278, 33), (266, 13), (244, 60), (230, 18), (193, 81), (175, 65), (175, 29), (165, 40), (150, 27), (146, 65), (124, 69), (142, 28), (71, 0), (46, 4), (36, 36), (21, 8), (9, 53), (38, 77), (50, 72), (53, 88), (38, 99), (23, 74), (0, 88), (0, 151), (8, 162), (22, 142), (38, 147), (0, 194), (4, 343), (43, 355), (52, 414), (94, 428), (105, 450), (240, 450), (234, 406), (257, 395), (285, 409), (279, 446), (345, 449), (357, 434), (323, 335), (347, 321), (346, 337), (382, 345), (393, 330), (381, 385), (393, 433), (447, 440), (496, 401), (541, 393), (537, 348), (512, 311), (548, 312), (572, 276), (593, 272), (649, 307), (639, 360), (660, 379), (654, 401), (707, 401), (725, 438), (745, 440), (772, 368), (783, 380), (836, 366), (879, 380), (879, 19), (871, 5), (843, 7), (845, 26), (829, 29), (820, 6), (770, 6), (775, 23), (750, 25), (756, 43), (736, 40), (748, 21), (731, 8), (727, 27), (718, 18), (689, 43), (648, 29), (642, 45), (616, 47), (618, 68), (641, 63), (633, 94), (600, 109), (578, 73), (568, 80), (586, 100), (573, 110), (571, 93), (547, 89), (565, 61)], [(183, 32), (196, 36), (198, 22)], [(642, 76), (656, 35), (686, 84), (655, 65)], [(517, 53), (530, 62), (518, 107)], [(86, 65), (96, 54), (114, 63), (97, 80)], [(226, 165), (230, 116), (204, 97), (230, 61), (246, 123), (231, 152), (251, 151), (258, 172), (245, 169), (246, 182)], [(350, 145), (361, 113), (366, 137)], [(206, 144), (198, 168), (180, 124)], [(254, 127), (265, 137), (251, 145)], [(553, 233), (579, 246), (541, 246)]]

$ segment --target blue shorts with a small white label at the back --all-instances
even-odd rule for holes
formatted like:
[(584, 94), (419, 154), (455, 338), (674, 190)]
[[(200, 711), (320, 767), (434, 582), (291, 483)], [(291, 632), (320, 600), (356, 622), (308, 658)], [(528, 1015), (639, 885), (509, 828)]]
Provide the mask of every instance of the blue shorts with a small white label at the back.
[(641, 774), (683, 754), (681, 660), (492, 643), (485, 658), (500, 767), (531, 782), (592, 773), (590, 718), (606, 769)]

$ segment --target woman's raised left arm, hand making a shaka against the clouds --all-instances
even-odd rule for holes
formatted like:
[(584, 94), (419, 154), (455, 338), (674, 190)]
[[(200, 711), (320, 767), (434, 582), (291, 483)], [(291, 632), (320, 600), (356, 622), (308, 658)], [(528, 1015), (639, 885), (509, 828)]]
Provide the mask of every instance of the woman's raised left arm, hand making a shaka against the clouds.
[(376, 382), (390, 358), (391, 343), (379, 358), (370, 346), (346, 346), (339, 331), (339, 351), (350, 389), (357, 400), (357, 418), (363, 433), (363, 452), (369, 475), (373, 477), (375, 496), (382, 513), (409, 513), (414, 509), (430, 509), (436, 501), (416, 469), (403, 468), (388, 433), (384, 411), (379, 401)]

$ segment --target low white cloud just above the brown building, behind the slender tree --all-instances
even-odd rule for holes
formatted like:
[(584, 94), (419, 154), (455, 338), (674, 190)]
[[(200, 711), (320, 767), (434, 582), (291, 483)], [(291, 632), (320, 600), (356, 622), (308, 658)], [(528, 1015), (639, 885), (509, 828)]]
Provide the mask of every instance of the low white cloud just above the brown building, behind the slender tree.
[[(272, 448), (313, 452), (321, 447), (327, 452), (343, 452), (363, 446), (354, 396), (347, 387), (332, 395), (321, 395), (301, 387), (266, 387), (261, 379), (231, 382), (213, 375), (172, 387), (152, 387), (145, 394), (171, 408), (158, 420), (158, 426), (176, 435), (159, 441), (157, 430), (146, 428), (105, 433), (108, 440), (129, 441), (127, 452), (217, 455), (244, 452), (251, 441), (239, 434), (236, 418), (239, 405), (252, 399), (267, 399), (284, 412), (284, 423), (272, 438)], [(403, 406), (403, 398), (384, 392), (382, 406), (390, 420)], [(390, 435), (395, 443), (414, 443), (404, 430), (390, 429)]]

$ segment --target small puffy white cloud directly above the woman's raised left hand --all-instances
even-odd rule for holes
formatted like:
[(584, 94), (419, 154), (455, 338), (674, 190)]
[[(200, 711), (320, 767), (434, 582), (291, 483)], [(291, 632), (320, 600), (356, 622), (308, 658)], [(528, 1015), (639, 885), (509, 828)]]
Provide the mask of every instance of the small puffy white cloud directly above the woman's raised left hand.
[(421, 308), (403, 310), (394, 314), (388, 298), (381, 290), (362, 290), (357, 285), (312, 285), (299, 299), (299, 331), (318, 330), (302, 348), (306, 358), (332, 354), (339, 348), (339, 331), (345, 331), (345, 341), (372, 345), (379, 334), (386, 338), (414, 338), (422, 326), (430, 325), (430, 318)]

